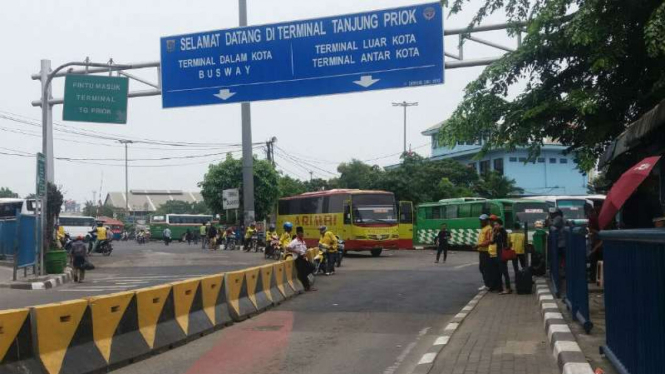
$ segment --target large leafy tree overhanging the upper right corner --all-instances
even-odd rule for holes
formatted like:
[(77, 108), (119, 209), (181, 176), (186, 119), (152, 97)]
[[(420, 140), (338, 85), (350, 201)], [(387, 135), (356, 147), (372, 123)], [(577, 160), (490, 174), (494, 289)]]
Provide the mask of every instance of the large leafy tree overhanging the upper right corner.
[[(467, 1), (444, 4), (455, 14)], [(625, 124), (665, 97), (662, 0), (485, 0), (470, 26), (501, 11), (528, 22), (526, 36), (466, 87), (444, 144), (484, 134), (483, 151), (528, 146), (536, 157), (551, 138), (590, 170)]]

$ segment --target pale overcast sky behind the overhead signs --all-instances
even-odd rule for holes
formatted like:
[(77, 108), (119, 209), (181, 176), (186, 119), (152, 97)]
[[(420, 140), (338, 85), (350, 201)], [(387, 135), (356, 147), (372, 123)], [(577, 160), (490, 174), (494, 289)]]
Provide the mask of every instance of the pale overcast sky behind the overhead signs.
[[(248, 0), (249, 23), (267, 24), (317, 18), (337, 14), (378, 10), (427, 3), (417, 0)], [(467, 6), (461, 15), (445, 20), (445, 28), (466, 26), (478, 4)], [(447, 13), (446, 13), (447, 14)], [(486, 23), (501, 22), (493, 17)], [(89, 56), (95, 62), (132, 63), (159, 60), (162, 36), (236, 27), (236, 0), (14, 0), (0, 2), (0, 116), (21, 116), (40, 123), (39, 108), (30, 102), (39, 99), (39, 81), (30, 75), (39, 72), (40, 60), (50, 59), (53, 67)], [(505, 32), (486, 33), (484, 38), (514, 43)], [(456, 37), (446, 38), (447, 50), (457, 53)], [(467, 43), (465, 57), (487, 57), (498, 51)], [(409, 109), (407, 142), (422, 155), (429, 155), (429, 140), (420, 133), (446, 119), (463, 96), (463, 89), (482, 68), (449, 70), (445, 84), (438, 86), (375, 91), (363, 94), (321, 96), (252, 104), (254, 142), (276, 136), (278, 169), (300, 179), (329, 178), (336, 164), (352, 158), (386, 166), (398, 161), (402, 150), (402, 111), (395, 101), (417, 101)], [(138, 73), (156, 82), (156, 71)], [(62, 97), (63, 80), (54, 84), (54, 97)], [(149, 87), (130, 83), (130, 90)], [(55, 181), (66, 198), (91, 200), (93, 191), (105, 196), (124, 191), (124, 149), (112, 140), (72, 134), (112, 134), (118, 138), (152, 139), (191, 143), (240, 143), (240, 105), (213, 105), (186, 109), (161, 108), (160, 97), (130, 99), (127, 125), (62, 122), (62, 106), (53, 111), (54, 122), (69, 132), (56, 131), (55, 156), (61, 158), (105, 159), (90, 163), (56, 160)], [(149, 144), (130, 146), (130, 159), (200, 156), (238, 150), (231, 146), (169, 148)], [(34, 157), (2, 153), (34, 154), (41, 150), (41, 129), (0, 119), (0, 187), (9, 187), (25, 196), (35, 188)], [(265, 157), (262, 149), (255, 154)], [(238, 155), (238, 153), (236, 153)], [(391, 156), (390, 156), (391, 155)], [(389, 156), (389, 157), (386, 157)], [(238, 157), (238, 156), (236, 156)], [(210, 162), (224, 156), (130, 163), (130, 189), (198, 190)], [(298, 160), (308, 160), (304, 165)], [(149, 167), (149, 166), (159, 167)], [(314, 167), (315, 166), (315, 167)]]

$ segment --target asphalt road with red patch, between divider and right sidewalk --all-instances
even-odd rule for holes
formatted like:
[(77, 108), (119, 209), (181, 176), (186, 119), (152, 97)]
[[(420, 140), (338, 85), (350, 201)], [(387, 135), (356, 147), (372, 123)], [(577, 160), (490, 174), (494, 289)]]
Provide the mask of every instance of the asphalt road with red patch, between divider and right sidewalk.
[(480, 286), (475, 253), (433, 260), (432, 251), (349, 256), (316, 292), (116, 372), (407, 374)]

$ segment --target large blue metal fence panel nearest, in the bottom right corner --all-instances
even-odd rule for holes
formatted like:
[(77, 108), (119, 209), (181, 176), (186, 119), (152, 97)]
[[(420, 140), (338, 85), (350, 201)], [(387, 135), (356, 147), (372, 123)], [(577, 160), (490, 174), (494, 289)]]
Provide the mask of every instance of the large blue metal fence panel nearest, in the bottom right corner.
[(603, 231), (607, 358), (622, 374), (665, 372), (665, 230)]

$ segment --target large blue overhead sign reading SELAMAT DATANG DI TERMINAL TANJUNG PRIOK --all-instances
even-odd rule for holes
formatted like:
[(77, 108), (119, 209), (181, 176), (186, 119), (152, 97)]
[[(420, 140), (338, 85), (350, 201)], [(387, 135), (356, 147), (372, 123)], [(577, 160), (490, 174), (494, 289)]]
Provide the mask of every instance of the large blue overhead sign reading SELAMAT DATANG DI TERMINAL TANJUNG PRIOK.
[(440, 3), (161, 38), (164, 108), (443, 83)]

